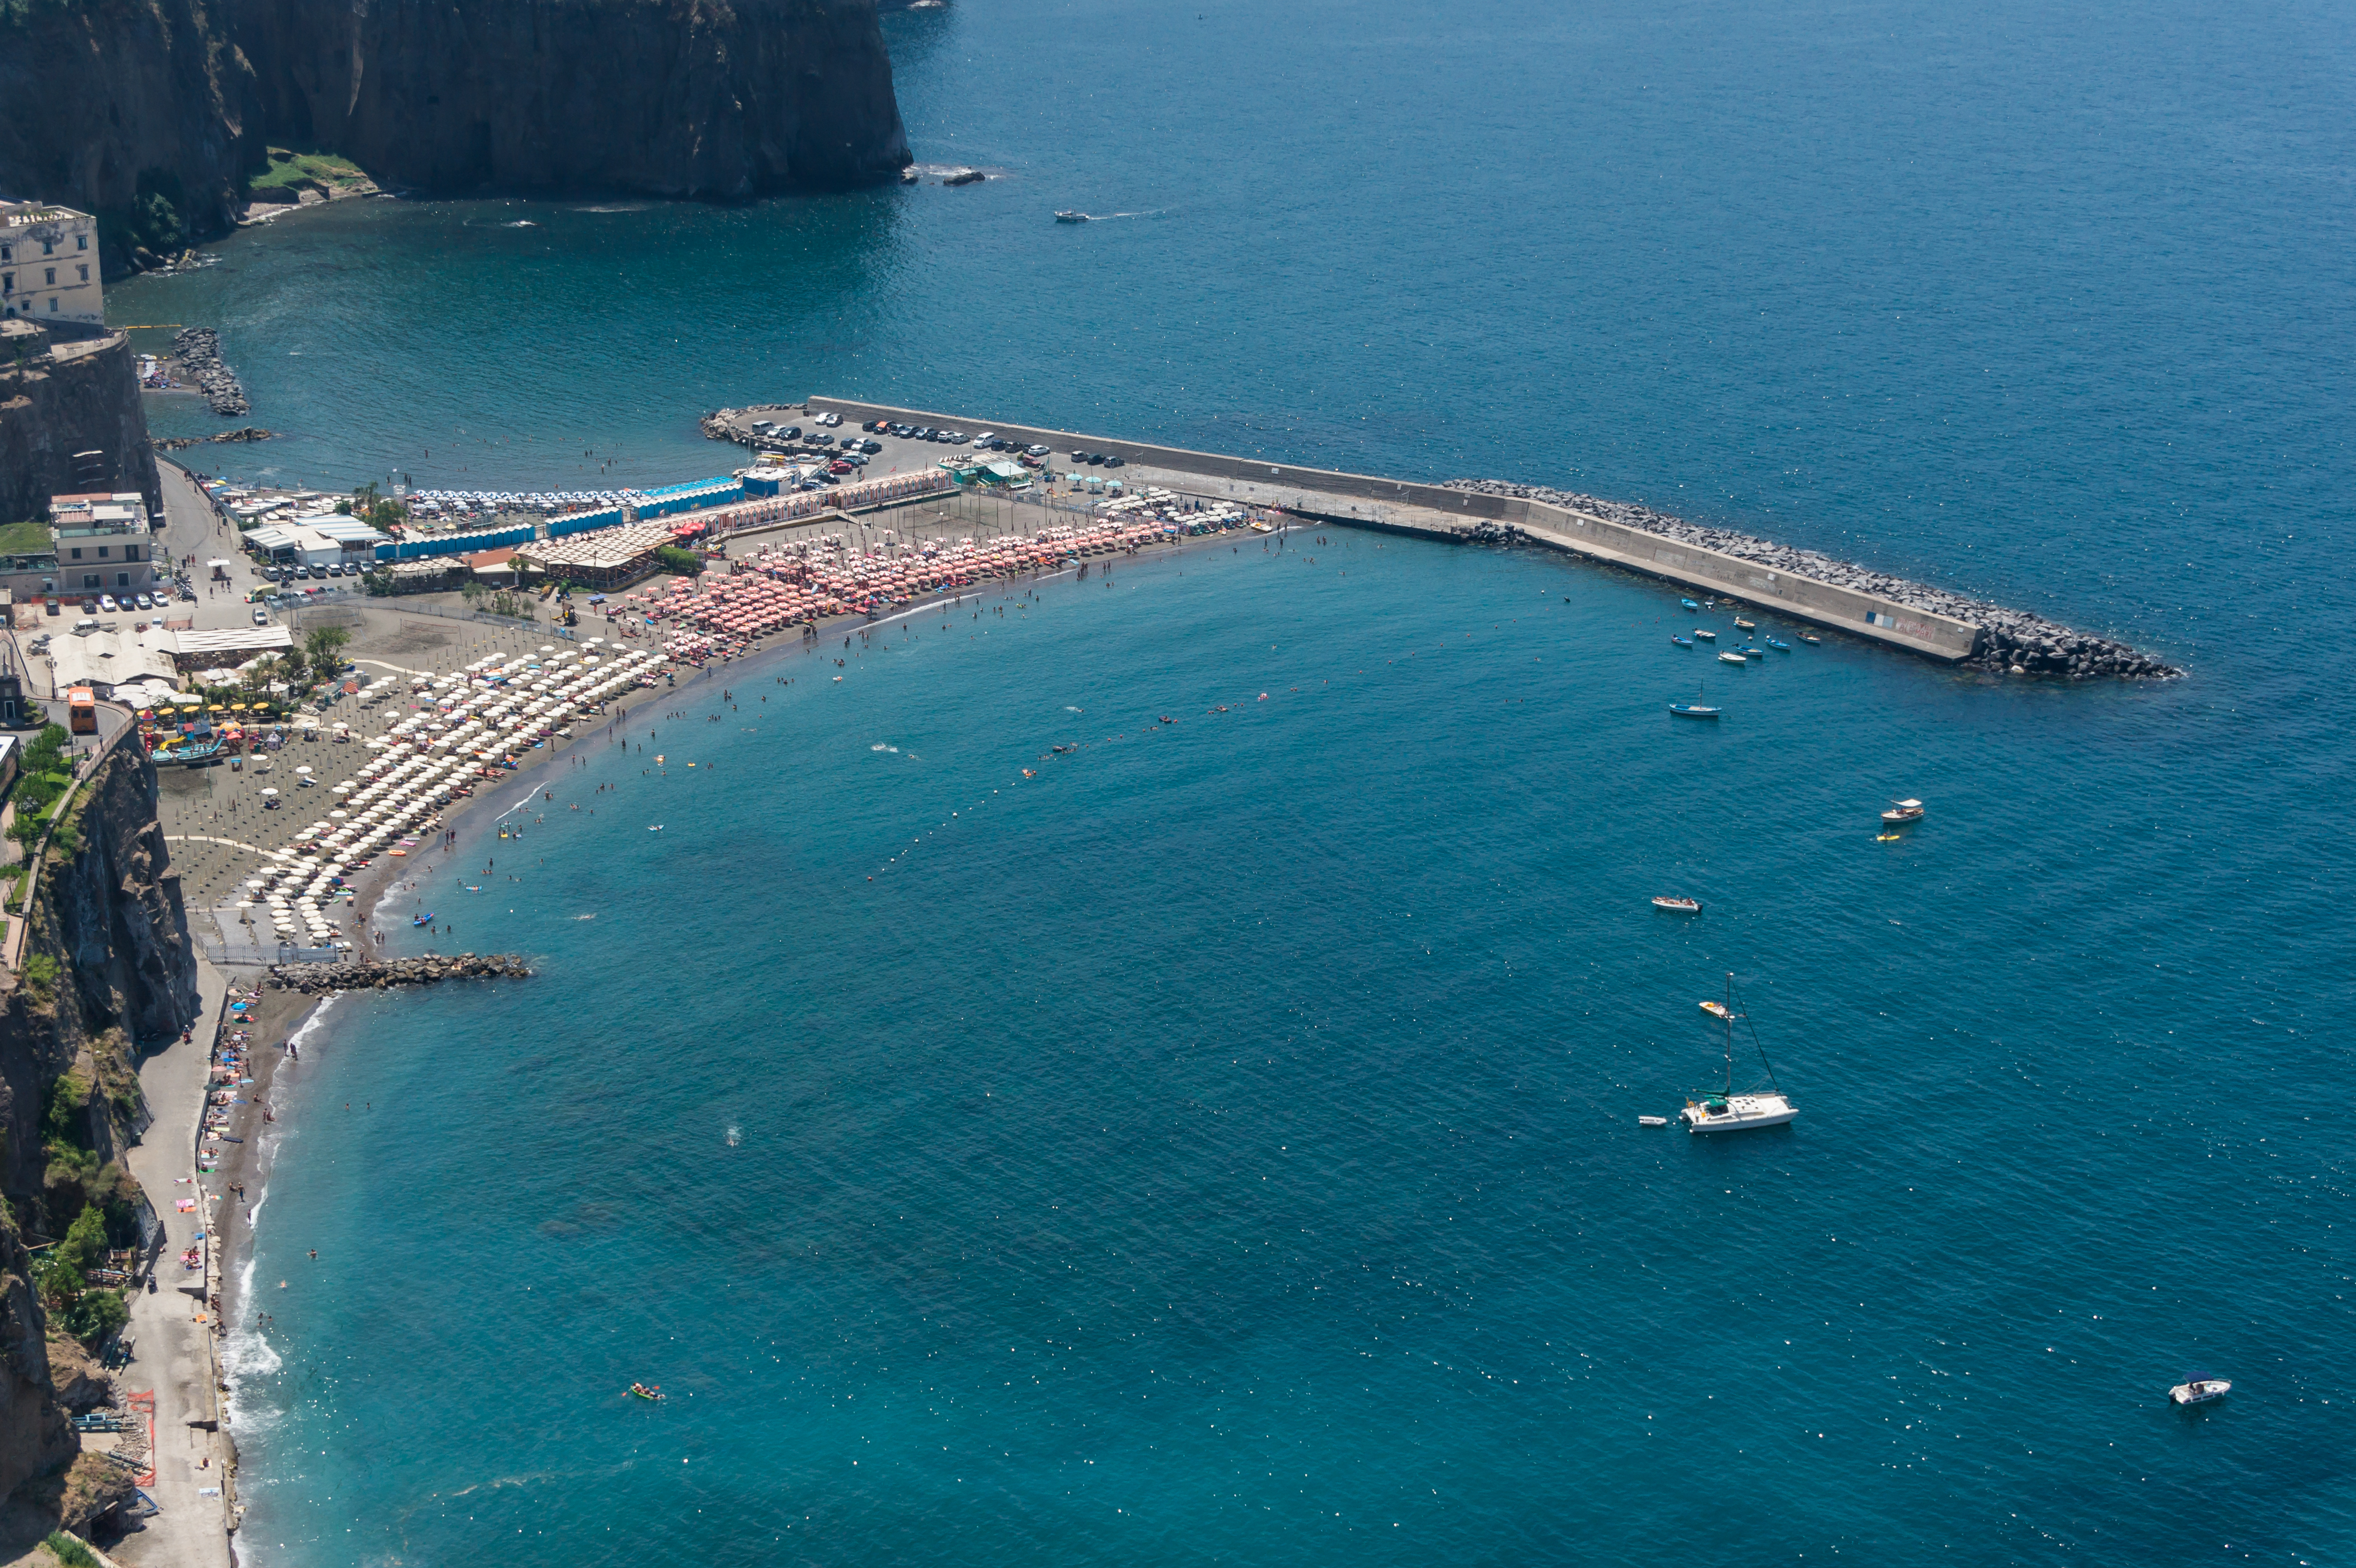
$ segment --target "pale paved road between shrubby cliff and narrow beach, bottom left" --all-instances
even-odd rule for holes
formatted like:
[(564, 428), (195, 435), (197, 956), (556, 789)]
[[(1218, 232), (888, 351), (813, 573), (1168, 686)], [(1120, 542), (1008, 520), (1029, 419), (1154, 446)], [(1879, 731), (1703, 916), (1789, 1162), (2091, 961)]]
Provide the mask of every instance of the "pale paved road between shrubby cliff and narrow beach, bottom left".
[[(179, 1255), (205, 1227), (205, 1210), (179, 1212), (177, 1198), (196, 1194), (196, 1128), (205, 1111), (210, 1036), (221, 1017), (229, 977), (198, 958), (196, 982), (203, 996), (196, 1041), (174, 1041), (139, 1064), (139, 1090), (155, 1123), (132, 1144), (125, 1163), (148, 1203), (163, 1220), (165, 1248), (155, 1262), (155, 1290), (130, 1297), (132, 1363), (115, 1377), (127, 1394), (155, 1389), (155, 1486), (144, 1488), (158, 1514), (144, 1528), (123, 1537), (111, 1556), (130, 1568), (229, 1568), (229, 1530), (224, 1497), (205, 1497), (226, 1474), (224, 1441), (191, 1427), (191, 1420), (214, 1420), (214, 1373), (210, 1311), (203, 1302), (205, 1276), (181, 1269)], [(184, 1293), (181, 1281), (198, 1295)], [(207, 1323), (196, 1314), (205, 1311)]]

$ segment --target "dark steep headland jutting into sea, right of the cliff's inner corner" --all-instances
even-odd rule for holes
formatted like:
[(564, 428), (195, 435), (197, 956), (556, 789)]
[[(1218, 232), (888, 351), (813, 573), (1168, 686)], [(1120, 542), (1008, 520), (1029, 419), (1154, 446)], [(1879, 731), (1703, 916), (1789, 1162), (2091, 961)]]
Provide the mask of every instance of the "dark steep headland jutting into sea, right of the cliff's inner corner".
[(749, 198), (909, 162), (874, 0), (252, 0), (273, 139), (419, 191)]

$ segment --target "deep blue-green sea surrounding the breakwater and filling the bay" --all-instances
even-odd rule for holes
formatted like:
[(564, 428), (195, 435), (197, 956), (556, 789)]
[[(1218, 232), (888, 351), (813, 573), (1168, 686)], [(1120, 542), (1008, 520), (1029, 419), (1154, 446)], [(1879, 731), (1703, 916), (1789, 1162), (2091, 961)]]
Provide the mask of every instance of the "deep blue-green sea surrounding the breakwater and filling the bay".
[[(434, 876), (535, 979), (313, 1034), (243, 1561), (2347, 1561), (2349, 12), (886, 31), (1004, 179), (368, 202), (111, 311), (221, 330), (250, 476), (695, 478), (862, 393), (1647, 499), (2191, 676), (1732, 671), (1352, 534), (733, 666)], [(1800, 1121), (1640, 1128), (1727, 972)]]

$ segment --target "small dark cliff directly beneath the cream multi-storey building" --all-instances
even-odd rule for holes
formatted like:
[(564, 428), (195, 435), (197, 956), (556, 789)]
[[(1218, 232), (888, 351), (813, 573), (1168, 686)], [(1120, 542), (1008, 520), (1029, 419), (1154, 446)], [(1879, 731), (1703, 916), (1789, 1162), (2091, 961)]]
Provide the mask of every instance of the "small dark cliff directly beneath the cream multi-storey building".
[(0, 363), (0, 523), (38, 518), (52, 494), (87, 490), (75, 452), (106, 454), (106, 490), (163, 506), (139, 372), (120, 332)]

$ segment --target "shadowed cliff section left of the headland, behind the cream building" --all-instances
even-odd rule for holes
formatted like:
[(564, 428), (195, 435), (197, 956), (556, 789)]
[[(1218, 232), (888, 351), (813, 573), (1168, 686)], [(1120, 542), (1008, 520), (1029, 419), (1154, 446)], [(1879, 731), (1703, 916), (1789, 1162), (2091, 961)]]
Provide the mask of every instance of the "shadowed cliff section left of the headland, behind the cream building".
[(0, 193), (127, 214), (174, 202), (196, 233), (236, 221), (252, 73), (205, 0), (0, 5)]

